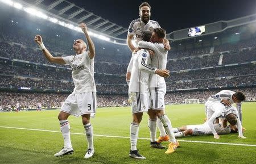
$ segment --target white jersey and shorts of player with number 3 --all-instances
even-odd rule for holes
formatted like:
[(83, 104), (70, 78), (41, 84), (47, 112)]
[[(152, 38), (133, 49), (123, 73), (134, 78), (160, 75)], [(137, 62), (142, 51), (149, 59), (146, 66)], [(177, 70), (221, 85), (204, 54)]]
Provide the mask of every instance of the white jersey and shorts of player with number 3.
[(71, 66), (75, 89), (68, 96), (60, 111), (74, 116), (96, 113), (96, 85), (94, 82), (94, 58), (90, 59), (88, 52), (75, 56), (63, 57)]

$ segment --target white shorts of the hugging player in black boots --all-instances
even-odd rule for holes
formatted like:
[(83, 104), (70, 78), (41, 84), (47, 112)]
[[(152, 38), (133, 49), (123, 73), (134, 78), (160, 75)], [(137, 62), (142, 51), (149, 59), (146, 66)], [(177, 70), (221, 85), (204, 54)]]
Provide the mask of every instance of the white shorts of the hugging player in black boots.
[(129, 92), (129, 101), (132, 113), (147, 112), (151, 104), (150, 92)]

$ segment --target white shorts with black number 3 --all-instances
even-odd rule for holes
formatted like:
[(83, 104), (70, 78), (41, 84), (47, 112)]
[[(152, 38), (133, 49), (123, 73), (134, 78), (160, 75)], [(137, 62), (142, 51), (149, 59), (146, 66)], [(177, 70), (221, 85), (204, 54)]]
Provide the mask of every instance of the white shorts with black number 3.
[(72, 92), (61, 106), (60, 111), (76, 117), (88, 113), (93, 113), (91, 116), (94, 116), (96, 107), (96, 92), (84, 92), (80, 94)]

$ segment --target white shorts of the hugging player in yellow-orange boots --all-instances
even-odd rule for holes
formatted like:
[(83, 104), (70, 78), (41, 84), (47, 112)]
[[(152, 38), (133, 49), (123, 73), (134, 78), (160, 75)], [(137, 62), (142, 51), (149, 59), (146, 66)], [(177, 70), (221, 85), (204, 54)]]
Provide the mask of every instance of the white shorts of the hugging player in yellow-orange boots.
[(150, 88), (152, 109), (164, 110), (166, 108), (164, 103), (164, 95), (166, 95), (166, 87)]

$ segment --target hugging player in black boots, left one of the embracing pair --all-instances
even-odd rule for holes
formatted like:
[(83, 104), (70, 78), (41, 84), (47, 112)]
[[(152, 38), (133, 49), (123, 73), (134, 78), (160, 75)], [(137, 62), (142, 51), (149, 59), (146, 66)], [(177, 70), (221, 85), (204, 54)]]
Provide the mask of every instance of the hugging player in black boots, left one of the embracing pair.
[[(150, 41), (151, 32), (145, 31), (143, 35), (144, 41)], [(129, 100), (131, 102), (131, 110), (133, 122), (130, 125), (130, 144), (131, 149), (129, 156), (137, 159), (145, 159), (137, 150), (137, 140), (139, 132), (139, 124), (141, 123), (143, 112), (148, 112), (151, 108), (150, 92), (148, 87), (149, 73), (159, 74), (162, 77), (168, 77), (167, 70), (159, 70), (150, 66), (151, 58), (147, 49), (141, 49), (134, 55), (133, 69), (131, 70), (131, 81), (129, 84)], [(156, 126), (155, 126), (156, 127)], [(151, 142), (151, 146), (161, 146), (156, 141)], [(164, 148), (164, 146), (162, 146)]]

